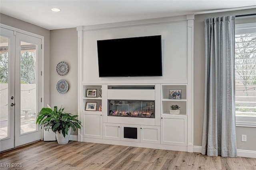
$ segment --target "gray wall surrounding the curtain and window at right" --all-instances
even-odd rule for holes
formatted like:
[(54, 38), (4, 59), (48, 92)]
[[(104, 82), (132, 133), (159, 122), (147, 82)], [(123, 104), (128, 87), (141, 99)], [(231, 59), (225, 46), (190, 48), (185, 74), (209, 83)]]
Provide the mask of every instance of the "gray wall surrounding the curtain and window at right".
[[(194, 20), (194, 145), (202, 146), (204, 118), (204, 19), (214, 16), (254, 14), (255, 9), (195, 15)], [(255, 22), (255, 16), (236, 19), (236, 24)], [(236, 127), (237, 148), (256, 150), (256, 128)], [(241, 142), (241, 135), (247, 142)]]

